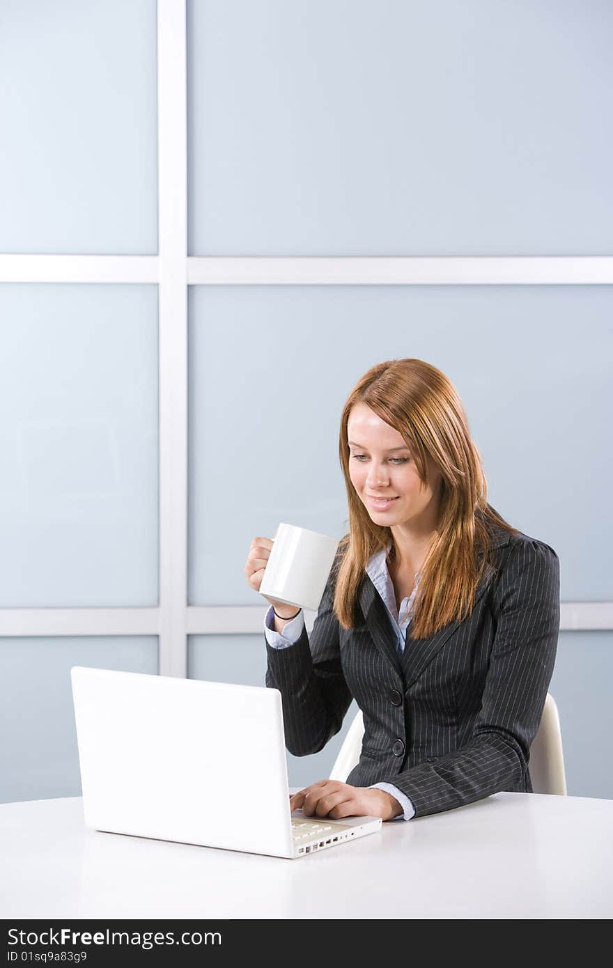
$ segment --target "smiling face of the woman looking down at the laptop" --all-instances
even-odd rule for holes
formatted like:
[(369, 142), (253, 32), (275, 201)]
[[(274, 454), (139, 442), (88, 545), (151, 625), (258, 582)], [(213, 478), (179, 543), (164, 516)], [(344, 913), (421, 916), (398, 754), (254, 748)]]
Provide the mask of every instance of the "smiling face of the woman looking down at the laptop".
[(348, 439), (352, 485), (375, 524), (436, 528), (442, 475), (434, 462), (424, 486), (402, 436), (366, 404), (352, 408)]

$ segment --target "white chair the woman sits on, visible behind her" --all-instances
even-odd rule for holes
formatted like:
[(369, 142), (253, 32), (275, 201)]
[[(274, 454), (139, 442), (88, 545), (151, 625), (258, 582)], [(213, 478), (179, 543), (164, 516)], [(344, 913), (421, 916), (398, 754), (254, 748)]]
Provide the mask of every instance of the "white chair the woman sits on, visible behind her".
[[(363, 736), (362, 711), (358, 710), (332, 767), (331, 780), (345, 783), (353, 767), (359, 762)], [(549, 692), (545, 699), (538, 732), (530, 747), (530, 776), (534, 793), (567, 796), (560, 716), (555, 700)]]

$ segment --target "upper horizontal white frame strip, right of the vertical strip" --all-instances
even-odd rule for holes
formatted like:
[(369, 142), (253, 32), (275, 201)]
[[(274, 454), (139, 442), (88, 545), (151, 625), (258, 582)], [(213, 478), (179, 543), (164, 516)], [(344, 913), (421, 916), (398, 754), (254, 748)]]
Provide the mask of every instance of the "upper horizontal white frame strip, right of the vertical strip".
[(599, 286), (613, 257), (196, 257), (194, 286)]

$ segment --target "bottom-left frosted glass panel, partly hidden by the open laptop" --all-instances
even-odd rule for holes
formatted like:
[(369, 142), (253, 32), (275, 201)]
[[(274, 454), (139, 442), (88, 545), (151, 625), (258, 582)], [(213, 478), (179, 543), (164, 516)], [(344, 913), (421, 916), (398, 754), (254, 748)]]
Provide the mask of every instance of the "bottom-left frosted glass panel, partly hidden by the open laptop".
[(156, 675), (158, 640), (0, 638), (0, 802), (80, 797), (76, 665)]

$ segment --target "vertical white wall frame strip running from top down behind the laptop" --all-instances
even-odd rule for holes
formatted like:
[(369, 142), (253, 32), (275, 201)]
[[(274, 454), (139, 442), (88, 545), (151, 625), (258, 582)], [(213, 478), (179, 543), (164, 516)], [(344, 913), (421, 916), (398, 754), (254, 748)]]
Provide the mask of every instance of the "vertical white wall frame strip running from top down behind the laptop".
[(187, 675), (187, 33), (185, 0), (158, 0), (160, 651)]

